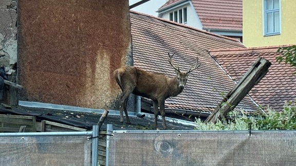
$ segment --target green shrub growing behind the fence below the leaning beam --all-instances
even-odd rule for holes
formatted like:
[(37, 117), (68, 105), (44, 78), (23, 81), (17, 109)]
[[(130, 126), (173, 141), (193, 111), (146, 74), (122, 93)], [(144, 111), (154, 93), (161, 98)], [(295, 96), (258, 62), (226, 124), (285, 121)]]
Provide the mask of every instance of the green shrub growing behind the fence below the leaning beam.
[(285, 102), (281, 112), (268, 108), (267, 113), (248, 117), (243, 110), (228, 114), (231, 120), (217, 120), (216, 123), (205, 124), (196, 119), (196, 130), (296, 130), (296, 100)]

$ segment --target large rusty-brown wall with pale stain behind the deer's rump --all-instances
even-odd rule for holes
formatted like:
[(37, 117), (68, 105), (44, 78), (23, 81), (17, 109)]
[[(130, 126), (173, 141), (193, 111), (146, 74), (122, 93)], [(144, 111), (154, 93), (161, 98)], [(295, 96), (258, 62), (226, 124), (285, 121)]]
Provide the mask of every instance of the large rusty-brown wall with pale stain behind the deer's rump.
[(113, 71), (131, 55), (128, 1), (18, 1), (20, 99), (115, 108)]

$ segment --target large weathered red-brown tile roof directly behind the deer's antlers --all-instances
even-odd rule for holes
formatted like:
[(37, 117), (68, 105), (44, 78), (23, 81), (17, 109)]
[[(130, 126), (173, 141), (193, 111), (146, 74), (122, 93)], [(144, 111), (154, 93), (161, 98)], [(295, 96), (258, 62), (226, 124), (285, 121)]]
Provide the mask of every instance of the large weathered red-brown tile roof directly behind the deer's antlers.
[[(211, 113), (222, 97), (234, 87), (234, 81), (208, 53), (209, 49), (244, 47), (237, 40), (194, 29), (137, 12), (131, 12), (134, 65), (149, 72), (175, 76), (168, 62), (168, 53), (176, 53), (173, 60), (186, 71), (199, 57), (201, 66), (193, 71), (184, 91), (165, 101), (167, 108), (199, 110)], [(255, 109), (250, 97), (245, 97), (237, 108)]]

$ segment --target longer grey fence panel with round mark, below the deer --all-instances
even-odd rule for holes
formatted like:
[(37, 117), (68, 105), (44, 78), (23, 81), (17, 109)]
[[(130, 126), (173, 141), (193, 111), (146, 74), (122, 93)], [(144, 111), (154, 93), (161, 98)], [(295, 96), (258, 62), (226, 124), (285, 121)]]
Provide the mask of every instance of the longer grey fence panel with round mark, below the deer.
[(109, 165), (295, 165), (295, 131), (135, 132), (109, 139)]

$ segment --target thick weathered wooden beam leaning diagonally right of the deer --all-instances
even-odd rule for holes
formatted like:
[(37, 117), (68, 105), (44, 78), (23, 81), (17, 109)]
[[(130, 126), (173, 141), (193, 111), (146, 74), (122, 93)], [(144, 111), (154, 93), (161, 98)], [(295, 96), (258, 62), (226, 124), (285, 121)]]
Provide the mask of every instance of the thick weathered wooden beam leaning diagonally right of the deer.
[(233, 110), (249, 91), (266, 75), (270, 66), (271, 63), (268, 60), (262, 57), (257, 58), (255, 63), (206, 119), (205, 123), (215, 123), (217, 119), (226, 117), (227, 114)]

